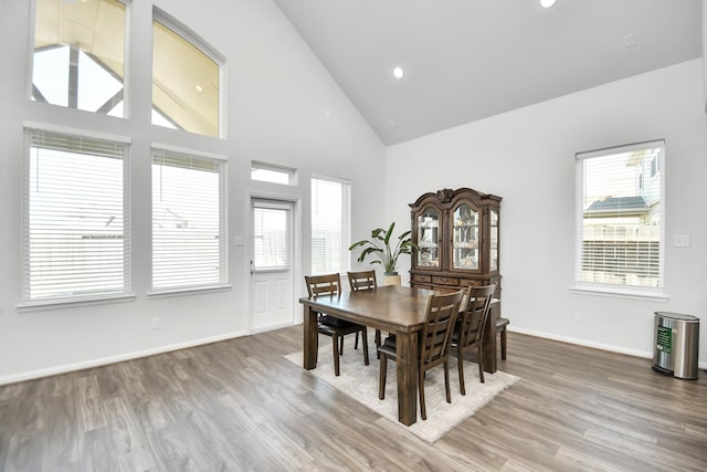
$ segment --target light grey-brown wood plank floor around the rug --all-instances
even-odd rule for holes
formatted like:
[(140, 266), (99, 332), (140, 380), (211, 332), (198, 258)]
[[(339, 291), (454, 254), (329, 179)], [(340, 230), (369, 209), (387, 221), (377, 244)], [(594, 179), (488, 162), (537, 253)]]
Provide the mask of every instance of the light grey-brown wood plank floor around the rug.
[(434, 445), (285, 360), (297, 326), (0, 387), (0, 470), (707, 470), (707, 373), (508, 343), (521, 380)]

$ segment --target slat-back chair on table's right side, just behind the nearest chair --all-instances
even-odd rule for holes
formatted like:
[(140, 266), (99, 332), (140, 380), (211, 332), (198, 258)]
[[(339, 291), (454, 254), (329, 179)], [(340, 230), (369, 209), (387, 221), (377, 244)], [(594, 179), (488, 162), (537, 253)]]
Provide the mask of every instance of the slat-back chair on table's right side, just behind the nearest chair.
[[(478, 363), (478, 378), (484, 382), (484, 329), (488, 323), (490, 301), (496, 291), (496, 284), (471, 286), (464, 295), (464, 307), (456, 321), (452, 335), (452, 348), (456, 353), (456, 364), (460, 371), (460, 390), (466, 395), (464, 387), (464, 353), (476, 349)], [(495, 333), (495, 332), (494, 332)]]

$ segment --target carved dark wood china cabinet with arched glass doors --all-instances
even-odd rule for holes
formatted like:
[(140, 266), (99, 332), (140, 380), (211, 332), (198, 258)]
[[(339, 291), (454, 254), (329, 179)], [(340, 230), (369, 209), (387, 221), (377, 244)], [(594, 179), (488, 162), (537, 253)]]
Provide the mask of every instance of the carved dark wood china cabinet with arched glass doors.
[[(495, 195), (460, 188), (424, 193), (410, 203), (412, 240), (419, 248), (412, 256), (410, 285), (460, 290), (496, 283), (495, 297), (500, 300), (500, 200)], [(492, 306), (484, 367), (496, 371), (495, 326), (500, 316), (500, 303)]]

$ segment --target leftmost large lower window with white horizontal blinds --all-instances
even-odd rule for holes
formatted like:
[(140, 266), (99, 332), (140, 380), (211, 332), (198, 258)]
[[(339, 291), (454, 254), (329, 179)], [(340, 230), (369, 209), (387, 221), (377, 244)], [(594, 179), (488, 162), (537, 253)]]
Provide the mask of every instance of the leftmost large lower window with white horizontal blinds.
[(127, 144), (28, 129), (25, 302), (130, 291)]

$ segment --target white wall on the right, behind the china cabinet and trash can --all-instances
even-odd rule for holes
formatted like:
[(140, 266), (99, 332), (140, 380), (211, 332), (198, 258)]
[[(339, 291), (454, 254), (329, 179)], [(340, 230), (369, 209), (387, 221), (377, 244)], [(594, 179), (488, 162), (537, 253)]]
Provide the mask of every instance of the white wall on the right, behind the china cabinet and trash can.
[[(703, 62), (695, 60), (389, 147), (388, 218), (409, 219), (408, 203), (441, 188), (499, 195), (502, 310), (514, 329), (652, 356), (654, 312), (687, 313), (701, 318), (705, 367), (704, 105)], [(669, 300), (571, 292), (576, 153), (662, 138)], [(689, 234), (690, 248), (674, 248), (676, 234)]]

